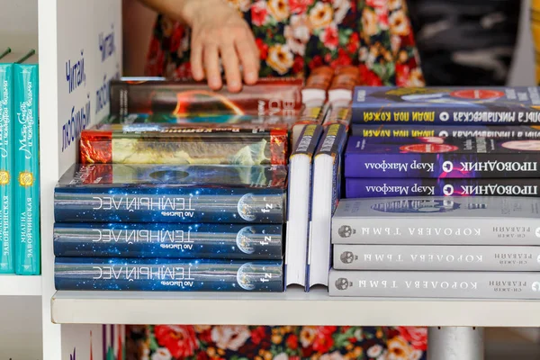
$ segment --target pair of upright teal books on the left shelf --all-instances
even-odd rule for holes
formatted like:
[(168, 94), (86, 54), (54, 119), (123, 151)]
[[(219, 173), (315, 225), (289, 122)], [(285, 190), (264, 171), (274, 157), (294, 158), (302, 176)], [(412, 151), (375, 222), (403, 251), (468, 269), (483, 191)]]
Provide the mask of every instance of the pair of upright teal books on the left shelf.
[(0, 54), (0, 274), (40, 275), (39, 75), (35, 50)]

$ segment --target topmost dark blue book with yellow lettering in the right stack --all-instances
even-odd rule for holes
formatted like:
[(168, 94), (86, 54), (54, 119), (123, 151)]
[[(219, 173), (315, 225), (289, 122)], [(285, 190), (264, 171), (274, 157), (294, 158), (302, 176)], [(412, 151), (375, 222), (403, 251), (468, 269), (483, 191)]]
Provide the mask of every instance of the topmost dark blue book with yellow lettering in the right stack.
[(523, 125), (540, 123), (539, 87), (358, 86), (353, 122)]

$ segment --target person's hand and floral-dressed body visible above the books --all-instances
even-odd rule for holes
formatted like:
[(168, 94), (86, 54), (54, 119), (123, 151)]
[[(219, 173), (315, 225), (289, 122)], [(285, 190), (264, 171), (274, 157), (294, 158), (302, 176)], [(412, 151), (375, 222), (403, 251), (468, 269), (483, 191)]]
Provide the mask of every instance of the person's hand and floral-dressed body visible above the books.
[[(321, 65), (355, 65), (365, 85), (424, 85), (405, 0), (139, 2), (126, 1), (124, 14), (136, 21), (136, 9), (147, 30), (141, 35), (129, 26), (124, 39), (139, 54), (141, 39), (150, 43), (146, 76), (204, 78), (212, 89), (226, 83), (238, 91), (260, 76), (305, 77)], [(157, 12), (153, 29), (140, 4)]]

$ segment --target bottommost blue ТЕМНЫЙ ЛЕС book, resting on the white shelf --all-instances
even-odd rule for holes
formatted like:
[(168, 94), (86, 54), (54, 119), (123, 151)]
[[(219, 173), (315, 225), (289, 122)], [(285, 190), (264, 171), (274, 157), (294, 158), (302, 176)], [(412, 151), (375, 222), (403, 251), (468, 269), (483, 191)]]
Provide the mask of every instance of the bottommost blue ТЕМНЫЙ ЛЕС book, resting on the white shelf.
[(57, 290), (283, 292), (282, 261), (56, 257)]

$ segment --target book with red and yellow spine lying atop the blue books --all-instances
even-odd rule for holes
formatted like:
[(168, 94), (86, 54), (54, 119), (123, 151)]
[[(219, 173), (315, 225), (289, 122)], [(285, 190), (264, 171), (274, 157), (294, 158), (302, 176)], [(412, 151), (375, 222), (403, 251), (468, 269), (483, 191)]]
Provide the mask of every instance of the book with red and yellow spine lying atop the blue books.
[(150, 129), (83, 130), (82, 164), (286, 165), (286, 129), (151, 125)]

